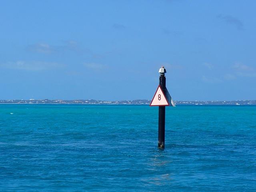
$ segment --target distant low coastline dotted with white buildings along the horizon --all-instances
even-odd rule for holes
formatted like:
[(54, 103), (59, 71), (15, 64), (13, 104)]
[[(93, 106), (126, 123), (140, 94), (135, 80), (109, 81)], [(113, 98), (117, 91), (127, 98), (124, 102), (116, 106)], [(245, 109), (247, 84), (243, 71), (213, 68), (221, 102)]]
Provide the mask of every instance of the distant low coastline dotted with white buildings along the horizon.
[[(149, 105), (151, 100), (0, 100), (0, 104), (140, 104)], [(234, 100), (234, 101), (174, 101), (176, 105), (256, 105), (256, 100)]]

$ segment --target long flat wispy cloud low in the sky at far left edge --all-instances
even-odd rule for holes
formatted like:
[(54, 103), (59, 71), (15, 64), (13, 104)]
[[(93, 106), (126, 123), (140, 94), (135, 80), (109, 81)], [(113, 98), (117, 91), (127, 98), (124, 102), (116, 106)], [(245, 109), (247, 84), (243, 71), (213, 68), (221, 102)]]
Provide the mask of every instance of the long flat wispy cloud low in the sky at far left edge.
[(42, 71), (42, 70), (53, 70), (55, 68), (63, 67), (63, 65), (55, 62), (16, 61), (16, 62), (6, 62), (4, 64), (0, 64), (0, 67), (12, 69), (12, 70)]

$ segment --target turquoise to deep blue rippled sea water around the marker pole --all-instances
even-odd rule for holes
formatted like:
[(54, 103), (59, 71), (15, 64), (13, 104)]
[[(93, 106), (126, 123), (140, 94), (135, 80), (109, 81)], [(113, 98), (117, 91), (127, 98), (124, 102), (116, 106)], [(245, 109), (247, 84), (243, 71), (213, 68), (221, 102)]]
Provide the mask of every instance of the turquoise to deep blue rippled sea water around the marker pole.
[(256, 106), (0, 105), (0, 191), (256, 191)]

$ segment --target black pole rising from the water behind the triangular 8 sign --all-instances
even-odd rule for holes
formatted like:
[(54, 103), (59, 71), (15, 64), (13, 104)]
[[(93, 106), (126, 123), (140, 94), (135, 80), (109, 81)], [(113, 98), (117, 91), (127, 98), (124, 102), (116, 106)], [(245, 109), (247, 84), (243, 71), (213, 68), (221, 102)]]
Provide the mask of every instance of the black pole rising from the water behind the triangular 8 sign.
[[(166, 78), (164, 73), (160, 73), (159, 85), (166, 95)], [(158, 147), (164, 148), (165, 141), (165, 106), (159, 106), (158, 110)]]

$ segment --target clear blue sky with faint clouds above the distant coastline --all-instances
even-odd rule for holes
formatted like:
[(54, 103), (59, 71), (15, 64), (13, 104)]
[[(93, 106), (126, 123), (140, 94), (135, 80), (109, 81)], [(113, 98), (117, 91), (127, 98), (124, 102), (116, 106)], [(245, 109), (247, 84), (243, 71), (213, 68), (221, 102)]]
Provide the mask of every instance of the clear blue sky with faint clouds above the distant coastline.
[(0, 99), (256, 99), (256, 1), (3, 1)]

